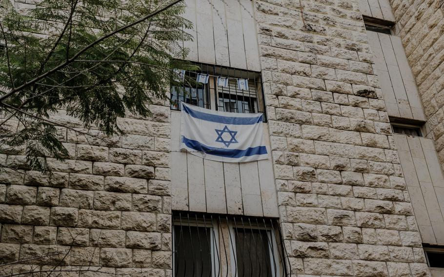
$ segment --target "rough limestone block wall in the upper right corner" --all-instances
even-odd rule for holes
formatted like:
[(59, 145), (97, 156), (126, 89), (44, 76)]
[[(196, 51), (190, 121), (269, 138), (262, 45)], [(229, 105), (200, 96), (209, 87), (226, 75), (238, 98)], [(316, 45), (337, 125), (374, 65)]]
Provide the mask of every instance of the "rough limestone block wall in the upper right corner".
[(418, 85), (427, 118), (444, 164), (444, 7), (442, 0), (391, 0), (405, 54)]

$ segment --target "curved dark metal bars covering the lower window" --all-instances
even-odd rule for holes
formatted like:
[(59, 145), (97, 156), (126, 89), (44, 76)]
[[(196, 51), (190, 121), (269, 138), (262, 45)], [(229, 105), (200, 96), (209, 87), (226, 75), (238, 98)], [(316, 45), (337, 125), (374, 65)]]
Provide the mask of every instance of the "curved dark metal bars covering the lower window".
[(291, 269), (275, 218), (173, 212), (174, 277), (285, 277)]

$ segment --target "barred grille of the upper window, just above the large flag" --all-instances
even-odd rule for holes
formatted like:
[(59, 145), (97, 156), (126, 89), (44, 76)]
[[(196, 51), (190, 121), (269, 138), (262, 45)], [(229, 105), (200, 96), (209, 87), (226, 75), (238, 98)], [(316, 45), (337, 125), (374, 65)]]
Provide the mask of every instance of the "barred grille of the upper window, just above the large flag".
[[(235, 113), (264, 113), (261, 74), (219, 65), (197, 63), (199, 72), (185, 74), (195, 80), (198, 73), (210, 75), (207, 84), (184, 82), (183, 87), (171, 87), (171, 109), (180, 110), (179, 102), (190, 103), (202, 108)], [(218, 86), (217, 76), (232, 78), (228, 86)], [(248, 79), (248, 91), (238, 89), (236, 79)], [(265, 116), (264, 116), (265, 118)]]

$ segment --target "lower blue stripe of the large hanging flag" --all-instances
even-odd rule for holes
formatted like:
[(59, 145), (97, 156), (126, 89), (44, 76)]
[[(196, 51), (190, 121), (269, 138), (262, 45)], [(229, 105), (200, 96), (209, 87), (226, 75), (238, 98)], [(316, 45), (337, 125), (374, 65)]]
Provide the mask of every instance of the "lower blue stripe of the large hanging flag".
[(189, 148), (197, 151), (202, 151), (210, 155), (221, 156), (226, 158), (241, 158), (244, 156), (263, 155), (267, 154), (265, 146), (248, 147), (247, 149), (226, 149), (206, 146), (197, 140), (187, 139), (182, 137), (182, 142)]

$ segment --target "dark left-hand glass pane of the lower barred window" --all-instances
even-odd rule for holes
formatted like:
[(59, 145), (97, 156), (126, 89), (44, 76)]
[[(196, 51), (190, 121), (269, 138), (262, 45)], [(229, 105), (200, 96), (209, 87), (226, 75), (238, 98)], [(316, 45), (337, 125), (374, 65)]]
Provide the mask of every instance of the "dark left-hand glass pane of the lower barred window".
[(211, 229), (175, 225), (174, 231), (175, 275), (211, 276)]

